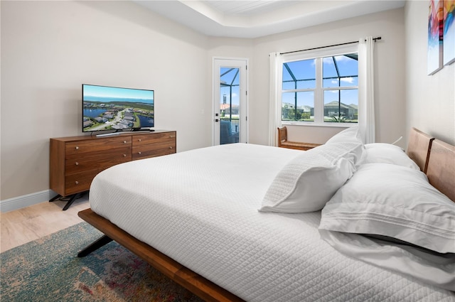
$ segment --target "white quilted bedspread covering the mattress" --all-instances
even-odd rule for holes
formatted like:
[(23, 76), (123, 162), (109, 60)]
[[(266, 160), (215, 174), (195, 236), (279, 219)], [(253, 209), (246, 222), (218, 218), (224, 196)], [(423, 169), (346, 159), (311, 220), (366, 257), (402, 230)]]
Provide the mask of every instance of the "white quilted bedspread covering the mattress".
[(259, 212), (302, 151), (228, 144), (113, 166), (90, 207), (245, 301), (455, 301), (455, 294), (337, 252), (321, 212)]

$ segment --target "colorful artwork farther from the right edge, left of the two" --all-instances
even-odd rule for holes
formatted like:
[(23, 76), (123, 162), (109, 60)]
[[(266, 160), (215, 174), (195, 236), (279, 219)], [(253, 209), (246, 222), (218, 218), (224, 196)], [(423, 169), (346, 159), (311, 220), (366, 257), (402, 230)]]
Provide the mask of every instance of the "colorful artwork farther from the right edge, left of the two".
[(429, 1), (427, 50), (428, 75), (432, 75), (442, 68), (442, 4), (442, 0)]

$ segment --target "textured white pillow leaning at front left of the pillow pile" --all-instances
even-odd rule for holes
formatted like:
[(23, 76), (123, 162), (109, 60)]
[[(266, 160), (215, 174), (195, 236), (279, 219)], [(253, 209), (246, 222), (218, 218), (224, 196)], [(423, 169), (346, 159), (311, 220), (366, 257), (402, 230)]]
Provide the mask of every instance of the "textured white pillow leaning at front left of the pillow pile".
[(363, 145), (333, 143), (302, 152), (277, 174), (262, 200), (261, 212), (299, 213), (323, 208), (355, 171)]

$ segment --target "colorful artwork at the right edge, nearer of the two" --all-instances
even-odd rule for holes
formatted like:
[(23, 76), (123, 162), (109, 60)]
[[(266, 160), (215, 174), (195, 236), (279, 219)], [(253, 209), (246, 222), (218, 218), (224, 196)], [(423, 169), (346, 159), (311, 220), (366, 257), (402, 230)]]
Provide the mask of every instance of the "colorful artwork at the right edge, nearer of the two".
[(444, 65), (455, 62), (455, 0), (444, 0)]

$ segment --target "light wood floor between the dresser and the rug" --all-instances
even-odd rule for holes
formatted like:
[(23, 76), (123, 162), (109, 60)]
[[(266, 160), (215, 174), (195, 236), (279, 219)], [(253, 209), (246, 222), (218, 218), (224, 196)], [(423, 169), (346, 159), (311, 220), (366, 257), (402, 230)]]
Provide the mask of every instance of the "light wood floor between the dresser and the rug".
[(77, 212), (89, 207), (87, 194), (63, 211), (64, 201), (38, 203), (19, 210), (0, 213), (0, 252), (58, 232), (83, 220)]

